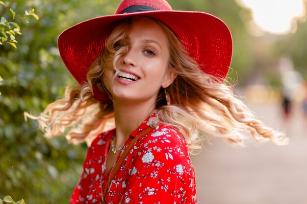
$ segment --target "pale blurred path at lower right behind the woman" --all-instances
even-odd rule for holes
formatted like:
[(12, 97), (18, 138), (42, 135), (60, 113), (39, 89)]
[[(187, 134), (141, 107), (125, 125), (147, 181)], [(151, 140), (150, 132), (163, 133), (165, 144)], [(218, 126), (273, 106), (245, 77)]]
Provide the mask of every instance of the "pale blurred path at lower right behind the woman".
[(307, 121), (298, 108), (288, 122), (276, 105), (250, 108), (290, 137), (287, 146), (270, 142), (233, 148), (215, 140), (197, 156), (199, 204), (307, 204)]

